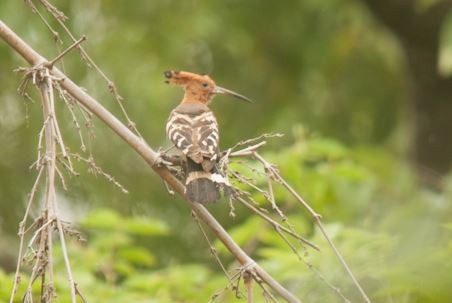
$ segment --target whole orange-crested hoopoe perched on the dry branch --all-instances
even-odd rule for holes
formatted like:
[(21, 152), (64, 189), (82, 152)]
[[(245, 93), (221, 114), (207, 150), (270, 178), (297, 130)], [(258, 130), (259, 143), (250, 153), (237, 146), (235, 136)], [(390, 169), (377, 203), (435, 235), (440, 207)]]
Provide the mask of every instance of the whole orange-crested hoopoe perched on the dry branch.
[(219, 185), (226, 180), (215, 168), (219, 160), (218, 124), (207, 106), (216, 94), (227, 94), (252, 102), (245, 96), (219, 87), (207, 75), (184, 71), (166, 71), (166, 83), (182, 86), (181, 103), (171, 112), (166, 133), (186, 160), (185, 195), (199, 203), (215, 202), (220, 198)]

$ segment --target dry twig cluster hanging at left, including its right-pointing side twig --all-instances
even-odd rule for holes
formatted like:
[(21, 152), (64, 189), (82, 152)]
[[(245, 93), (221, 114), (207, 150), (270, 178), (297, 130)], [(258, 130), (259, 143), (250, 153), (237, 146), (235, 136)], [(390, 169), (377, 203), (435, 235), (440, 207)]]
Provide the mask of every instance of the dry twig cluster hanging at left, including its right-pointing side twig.
[[(32, 286), (39, 280), (41, 281), (41, 302), (54, 301), (56, 297), (56, 289), (54, 287), (53, 278), (53, 236), (55, 231), (57, 232), (60, 241), (62, 257), (69, 280), (71, 303), (76, 303), (77, 296), (81, 298), (83, 302), (86, 302), (86, 300), (83, 298), (83, 295), (81, 294), (80, 289), (74, 282), (65, 241), (66, 234), (76, 235), (77, 233), (74, 233), (69, 225), (63, 222), (58, 216), (57, 195), (55, 187), (56, 177), (61, 180), (63, 189), (67, 190), (63, 174), (58, 168), (58, 165), (63, 166), (70, 175), (78, 175), (74, 171), (71, 159), (75, 158), (78, 161), (86, 162), (91, 173), (101, 174), (115, 186), (119, 187), (124, 193), (127, 193), (127, 190), (122, 187), (121, 184), (114, 180), (112, 176), (103, 172), (102, 169), (95, 164), (92, 156), (90, 156), (88, 159), (85, 159), (78, 154), (69, 153), (67, 151), (67, 147), (64, 144), (60, 127), (57, 121), (57, 116), (55, 113), (54, 91), (57, 91), (61, 99), (64, 100), (65, 104), (68, 106), (71, 112), (74, 123), (76, 124), (76, 126), (78, 126), (77, 118), (72, 111), (69, 101), (70, 97), (67, 95), (67, 93), (65, 93), (65, 91), (62, 89), (62, 86), (60, 85), (62, 78), (54, 76), (51, 70), (53, 69), (55, 63), (61, 60), (64, 55), (66, 55), (70, 50), (78, 47), (79, 44), (84, 40), (85, 37), (82, 37), (51, 61), (40, 61), (37, 65), (31, 68), (19, 68), (16, 70), (24, 74), (22, 83), (20, 84), (18, 89), (19, 94), (25, 95), (27, 86), (30, 83), (35, 85), (39, 89), (44, 122), (38, 136), (38, 158), (30, 167), (30, 169), (36, 169), (38, 171), (38, 175), (29, 195), (24, 218), (19, 225), (19, 257), (16, 264), (16, 272), (13, 282), (13, 288), (11, 291), (10, 303), (14, 301), (14, 298), (16, 296), (17, 287), (21, 280), (20, 268), (22, 266), (22, 263), (26, 261), (32, 264), (32, 271), (30, 274), (30, 280), (28, 282), (27, 290), (23, 297), (23, 302), (32, 302)], [(89, 115), (91, 115), (91, 113), (89, 113)], [(84, 143), (80, 127), (78, 126), (77, 129), (80, 134), (80, 139), (82, 141), (83, 147)], [(45, 175), (43, 209), (41, 210), (39, 217), (27, 227), (27, 220), (29, 218), (32, 204), (35, 200), (34, 198), (36, 192), (38, 191), (38, 185), (41, 183), (42, 175)], [(34, 233), (31, 235), (31, 238), (24, 252), (25, 236), (33, 229)]]

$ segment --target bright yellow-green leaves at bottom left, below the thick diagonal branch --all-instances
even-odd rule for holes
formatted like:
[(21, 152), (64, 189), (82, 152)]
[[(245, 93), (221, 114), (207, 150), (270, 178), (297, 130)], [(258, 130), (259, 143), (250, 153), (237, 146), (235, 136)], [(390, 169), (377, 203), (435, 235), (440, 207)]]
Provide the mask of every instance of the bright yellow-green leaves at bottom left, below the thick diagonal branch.
[[(133, 228), (128, 228), (129, 224)], [(99, 209), (90, 213), (81, 226), (88, 242), (69, 241), (69, 255), (74, 277), (89, 301), (124, 302), (202, 302), (221, 291), (227, 279), (204, 264), (173, 263), (166, 268), (156, 264), (152, 249), (140, 244), (142, 237), (169, 234), (160, 220), (124, 217), (113, 210)], [(143, 228), (144, 232), (136, 232)], [(56, 302), (68, 302), (69, 287), (65, 276), (61, 247), (56, 245)], [(19, 294), (25, 292), (27, 272), (21, 273)], [(0, 302), (9, 300), (13, 274), (0, 270)], [(33, 291), (39, 293), (35, 283)], [(22, 302), (18, 296), (15, 302)], [(232, 292), (222, 295), (234, 302)], [(36, 298), (37, 300), (37, 298)]]

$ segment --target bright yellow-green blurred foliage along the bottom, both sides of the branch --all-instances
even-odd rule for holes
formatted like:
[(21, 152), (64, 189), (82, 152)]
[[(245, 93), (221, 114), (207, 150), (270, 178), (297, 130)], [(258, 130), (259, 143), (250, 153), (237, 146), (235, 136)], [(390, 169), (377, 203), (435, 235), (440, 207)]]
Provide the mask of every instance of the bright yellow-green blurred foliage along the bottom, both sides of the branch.
[[(404, 163), (375, 147), (350, 149), (337, 141), (302, 133), (298, 132), (294, 144), (266, 157), (279, 164), (288, 182), (323, 215), (328, 235), (373, 302), (450, 300), (452, 210), (446, 203), (450, 193), (417, 186), (405, 173)], [(367, 156), (370, 151), (372, 158)], [(256, 163), (250, 166), (259, 167)], [(400, 191), (401, 185), (410, 190)], [(359, 294), (312, 218), (286, 191), (279, 186), (275, 190), (290, 224), (318, 244), (321, 252), (292, 243), (300, 251), (300, 260), (273, 228), (256, 216), (247, 215), (230, 228), (233, 238), (251, 249), (264, 268), (306, 302), (341, 302), (324, 280), (347, 298), (359, 301)], [(242, 208), (237, 211), (243, 216)], [(90, 300), (199, 302), (228, 285), (216, 263), (212, 267), (173, 259), (165, 264), (171, 252), (167, 256), (155, 254), (158, 248), (152, 244), (172, 239), (176, 230), (161, 219), (123, 216), (102, 208), (87, 214), (80, 227), (87, 242), (70, 241), (69, 254), (74, 276)], [(216, 242), (215, 246), (222, 259), (229, 260), (221, 244)], [(200, 247), (208, 255), (206, 245)], [(58, 246), (55, 254), (59, 300), (66, 302), (68, 286)], [(26, 276), (22, 274), (22, 292)], [(12, 274), (0, 273), (0, 302), (6, 302), (11, 282)], [(261, 294), (256, 291), (256, 295)], [(233, 297), (229, 290), (219, 300), (232, 302)]]

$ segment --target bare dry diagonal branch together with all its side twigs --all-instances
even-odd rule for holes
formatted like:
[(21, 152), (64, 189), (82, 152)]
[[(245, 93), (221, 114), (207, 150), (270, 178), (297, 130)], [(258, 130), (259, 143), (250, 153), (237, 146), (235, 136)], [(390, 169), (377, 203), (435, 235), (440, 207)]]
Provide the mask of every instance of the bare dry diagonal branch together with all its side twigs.
[[(76, 114), (74, 113), (74, 107), (77, 107), (85, 120), (85, 125), (88, 129), (91, 128), (91, 116), (92, 114), (96, 115), (100, 118), (107, 126), (109, 126), (113, 131), (115, 131), (122, 139), (124, 139), (132, 148), (134, 148), (137, 153), (151, 166), (152, 169), (158, 173), (161, 178), (164, 180), (165, 184), (167, 184), (170, 188), (172, 188), (175, 192), (179, 193), (181, 196), (184, 196), (184, 187), (179, 182), (179, 180), (174, 176), (173, 172), (168, 170), (164, 165), (155, 165), (156, 163), (161, 163), (161, 157), (159, 153), (156, 153), (152, 150), (141, 138), (138, 130), (135, 127), (135, 124), (128, 117), (124, 106), (122, 104), (122, 97), (117, 93), (117, 89), (114, 83), (109, 80), (106, 75), (97, 67), (94, 61), (88, 56), (88, 54), (83, 50), (80, 45), (86, 38), (82, 37), (80, 39), (75, 39), (74, 35), (68, 30), (65, 25), (66, 16), (58, 9), (56, 9), (53, 5), (51, 5), (46, 0), (39, 0), (41, 5), (57, 20), (60, 26), (66, 31), (66, 33), (73, 40), (73, 44), (68, 47), (65, 51), (61, 52), (56, 58), (51, 61), (45, 60), (38, 53), (36, 53), (32, 48), (30, 48), (24, 41), (22, 41), (14, 32), (12, 32), (2, 21), (0, 21), (0, 37), (3, 38), (12, 48), (16, 50), (22, 57), (24, 57), (33, 67), (27, 69), (19, 69), (18, 71), (24, 72), (24, 80), (19, 87), (19, 93), (24, 96), (27, 96), (25, 93), (25, 89), (27, 85), (30, 83), (36, 85), (41, 92), (41, 101), (43, 104), (43, 113), (44, 113), (44, 123), (42, 130), (39, 133), (38, 140), (38, 159), (32, 165), (32, 167), (38, 170), (38, 175), (35, 181), (35, 184), (32, 188), (32, 191), (29, 196), (28, 205), (26, 208), (24, 219), (21, 221), (19, 226), (19, 237), (20, 237), (20, 246), (19, 246), (19, 258), (17, 262), (16, 268), (16, 276), (14, 280), (13, 290), (11, 293), (10, 303), (13, 302), (14, 296), (17, 291), (17, 285), (20, 281), (20, 266), (23, 260), (27, 258), (31, 258), (31, 262), (33, 262), (33, 269), (31, 273), (30, 282), (23, 298), (24, 302), (32, 302), (32, 294), (31, 294), (31, 286), (37, 280), (37, 278), (41, 277), (41, 302), (51, 302), (55, 297), (55, 288), (53, 285), (53, 255), (52, 255), (52, 236), (53, 231), (58, 232), (58, 236), (61, 242), (61, 247), (63, 251), (63, 258), (66, 267), (66, 272), (68, 275), (68, 280), (70, 283), (70, 295), (71, 295), (71, 303), (76, 303), (76, 297), (82, 300), (82, 302), (86, 302), (85, 298), (81, 294), (77, 284), (74, 282), (70, 264), (69, 257), (66, 249), (65, 243), (65, 233), (69, 234), (69, 230), (66, 225), (59, 219), (57, 215), (57, 201), (56, 201), (56, 190), (55, 190), (55, 176), (59, 177), (62, 186), (66, 189), (66, 185), (63, 179), (63, 175), (58, 168), (58, 164), (62, 165), (71, 175), (76, 175), (77, 173), (74, 171), (71, 159), (77, 159), (78, 161), (83, 161), (87, 163), (90, 167), (90, 171), (94, 174), (101, 174), (106, 177), (110, 182), (120, 188), (123, 192), (127, 192), (127, 190), (122, 187), (112, 176), (107, 173), (104, 173), (94, 162), (92, 156), (90, 155), (88, 158), (82, 157), (76, 153), (69, 153), (66, 146), (64, 145), (63, 138), (58, 126), (57, 118), (55, 115), (55, 102), (54, 102), (54, 90), (56, 90), (59, 94), (60, 99), (64, 101), (67, 108), (69, 109), (73, 124), (77, 128), (81, 141), (81, 150), (85, 151), (85, 143), (83, 139), (83, 135), (80, 131), (80, 124), (77, 121)], [(39, 10), (36, 8), (32, 0), (26, 0), (26, 3), (30, 5), (32, 11), (37, 13), (39, 17), (44, 21), (49, 30), (53, 33), (55, 40), (58, 42), (59, 39), (58, 32), (53, 30), (49, 23), (45, 20), (45, 18), (39, 13)], [(72, 49), (77, 48), (82, 56), (82, 59), (88, 64), (88, 66), (94, 66), (94, 68), (101, 74), (101, 76), (108, 83), (108, 87), (112, 94), (115, 96), (123, 114), (127, 120), (127, 127), (124, 126), (116, 117), (114, 117), (110, 112), (108, 112), (105, 108), (103, 108), (95, 99), (89, 96), (84, 90), (79, 88), (75, 83), (73, 83), (66, 75), (64, 75), (60, 70), (55, 67), (55, 64), (62, 60), (62, 58)], [(132, 131), (133, 132), (132, 132)], [(92, 134), (91, 134), (92, 135)], [(93, 135), (92, 135), (93, 136)], [(334, 243), (328, 237), (321, 222), (321, 216), (317, 214), (308, 203), (306, 203), (298, 193), (281, 177), (278, 170), (274, 165), (267, 162), (258, 152), (257, 150), (266, 144), (266, 141), (263, 141), (269, 137), (279, 137), (281, 134), (264, 134), (260, 137), (249, 139), (246, 141), (239, 142), (231, 149), (226, 151), (225, 155), (222, 158), (222, 162), (220, 162), (220, 169), (228, 173), (228, 175), (237, 180), (240, 183), (246, 184), (251, 188), (255, 189), (259, 193), (261, 193), (267, 201), (270, 203), (272, 210), (278, 215), (278, 217), (282, 220), (284, 225), (278, 223), (275, 219), (273, 219), (266, 209), (259, 207), (259, 205), (251, 198), (251, 196), (247, 192), (243, 192), (238, 188), (235, 188), (235, 193), (232, 196), (232, 200), (238, 201), (246, 208), (250, 209), (258, 216), (260, 216), (264, 221), (266, 221), (274, 230), (279, 234), (279, 236), (286, 242), (286, 244), (292, 249), (292, 251), (299, 257), (300, 260), (305, 262), (309, 268), (312, 266), (308, 264), (303, 258), (299, 255), (297, 248), (289, 241), (288, 237), (292, 237), (297, 242), (302, 245), (302, 248), (305, 249), (305, 246), (311, 247), (315, 250), (319, 250), (319, 248), (304, 239), (302, 236), (296, 233), (293, 226), (288, 222), (287, 217), (284, 215), (283, 211), (276, 204), (274, 194), (273, 194), (273, 182), (281, 184), (286, 190), (288, 190), (295, 199), (307, 209), (310, 215), (314, 218), (316, 224), (321, 230), (322, 234), (328, 241), (330, 247), (336, 254), (337, 258), (350, 275), (354, 284), (362, 294), (365, 302), (370, 302), (366, 293), (360, 286), (357, 279), (354, 277), (352, 271), (346, 264), (345, 260), (335, 247)], [(45, 142), (45, 143), (43, 143)], [(257, 143), (256, 143), (257, 142)], [(252, 144), (252, 145), (251, 145)], [(236, 148), (246, 146), (241, 150), (235, 151)], [(45, 149), (43, 148), (45, 147)], [(59, 150), (59, 153), (57, 152)], [(252, 180), (249, 180), (247, 177), (242, 176), (238, 172), (228, 171), (227, 164), (230, 158), (234, 157), (251, 157), (260, 162), (264, 167), (264, 175), (267, 178), (267, 187), (268, 190), (262, 190), (258, 188)], [(164, 163), (164, 162), (163, 162)], [(171, 169), (171, 168), (170, 168)], [(46, 176), (46, 185), (45, 185), (45, 203), (44, 210), (42, 211), (41, 216), (36, 219), (29, 227), (26, 227), (26, 221), (29, 216), (29, 212), (31, 209), (32, 202), (34, 200), (38, 184), (42, 179), (43, 172), (45, 172)], [(256, 171), (255, 171), (256, 172)], [(233, 215), (234, 209), (231, 200), (231, 214)], [(276, 280), (274, 280), (267, 272), (265, 272), (253, 259), (251, 259), (229, 236), (229, 234), (221, 227), (221, 225), (215, 220), (215, 218), (200, 204), (188, 202), (188, 205), (193, 209), (193, 214), (196, 222), (199, 224), (206, 240), (211, 247), (211, 252), (216, 260), (220, 263), (220, 266), (225, 271), (228, 279), (229, 285), (226, 289), (231, 288), (236, 291), (237, 296), (241, 296), (239, 290), (240, 279), (243, 279), (244, 285), (246, 287), (247, 301), (253, 302), (253, 281), (256, 282), (259, 287), (262, 289), (264, 298), (267, 302), (277, 302), (277, 299), (274, 297), (272, 292), (268, 288), (270, 288), (274, 293), (277, 293), (279, 296), (284, 298), (287, 302), (301, 302), (297, 299), (293, 294), (291, 294), (288, 290), (282, 287)], [(221, 260), (214, 250), (213, 246), (210, 244), (210, 241), (207, 238), (206, 233), (202, 229), (199, 220), (203, 221), (218, 237), (219, 240), (223, 242), (223, 244), (228, 248), (232, 255), (237, 259), (237, 261), (241, 264), (240, 269), (236, 274), (230, 276), (224, 266), (221, 264)], [(35, 232), (31, 237), (31, 240), (28, 244), (28, 250), (31, 252), (30, 255), (27, 253), (24, 254), (24, 242), (25, 242), (25, 234), (27, 231), (35, 228)], [(23, 256), (23, 257), (22, 257)], [(322, 280), (325, 280), (320, 273), (316, 270), (316, 272)], [(344, 301), (348, 301), (341, 293), (340, 290), (336, 287), (332, 286), (325, 280), (325, 283), (330, 286), (334, 291), (336, 291)], [(211, 302), (218, 297), (218, 294), (215, 294)]]

